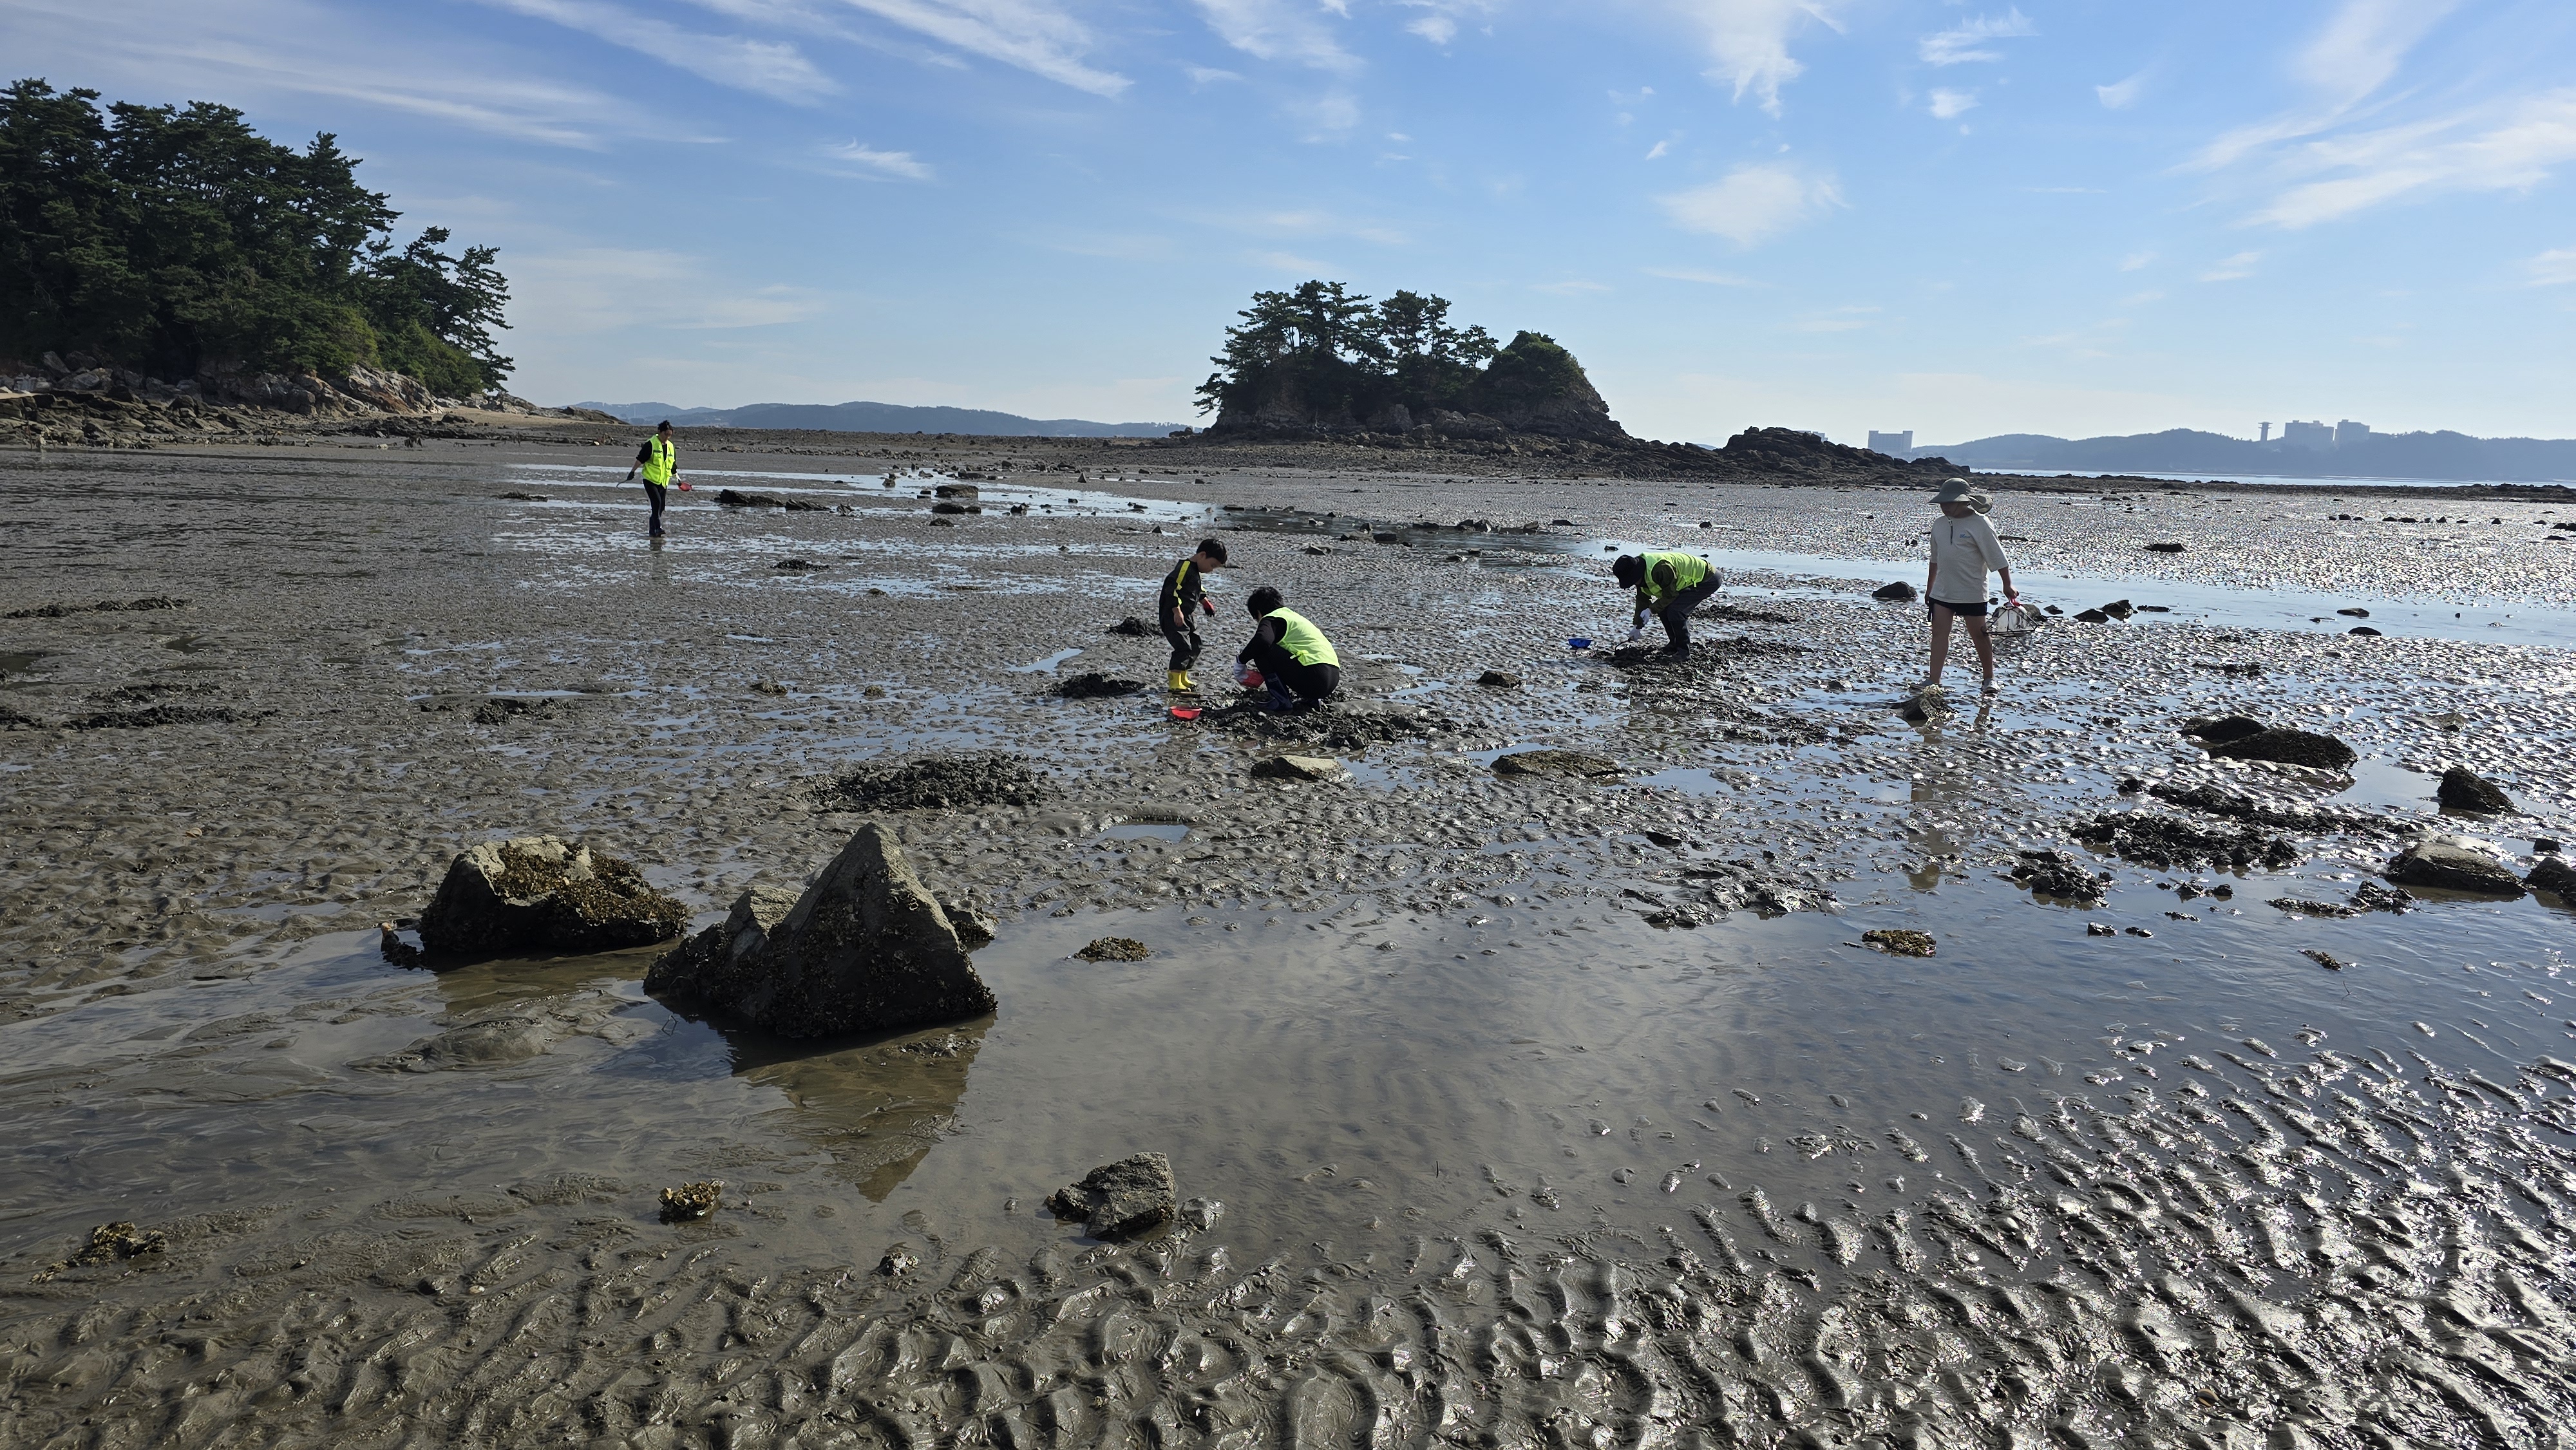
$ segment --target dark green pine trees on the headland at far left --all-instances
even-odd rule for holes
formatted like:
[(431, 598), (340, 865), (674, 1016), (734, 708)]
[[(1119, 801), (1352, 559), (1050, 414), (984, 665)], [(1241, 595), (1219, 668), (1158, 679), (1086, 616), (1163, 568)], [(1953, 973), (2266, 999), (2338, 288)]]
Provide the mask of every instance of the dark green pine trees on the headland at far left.
[(330, 134), (301, 152), (209, 106), (0, 93), (0, 361), (90, 353), (162, 379), (353, 366), (466, 397), (510, 373), (510, 283), (399, 214)]

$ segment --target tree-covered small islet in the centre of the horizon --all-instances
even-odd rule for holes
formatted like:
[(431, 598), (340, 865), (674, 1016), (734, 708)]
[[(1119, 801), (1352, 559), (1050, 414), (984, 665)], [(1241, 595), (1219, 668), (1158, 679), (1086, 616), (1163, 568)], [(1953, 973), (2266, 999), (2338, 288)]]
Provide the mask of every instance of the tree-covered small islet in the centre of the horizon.
[(1216, 371), (1198, 386), (1216, 428), (1306, 422), (1414, 428), (1440, 415), (1499, 417), (1512, 428), (1610, 433), (1607, 407), (1574, 353), (1546, 332), (1494, 343), (1455, 327), (1443, 296), (1396, 291), (1370, 301), (1337, 281), (1257, 291), (1226, 330)]

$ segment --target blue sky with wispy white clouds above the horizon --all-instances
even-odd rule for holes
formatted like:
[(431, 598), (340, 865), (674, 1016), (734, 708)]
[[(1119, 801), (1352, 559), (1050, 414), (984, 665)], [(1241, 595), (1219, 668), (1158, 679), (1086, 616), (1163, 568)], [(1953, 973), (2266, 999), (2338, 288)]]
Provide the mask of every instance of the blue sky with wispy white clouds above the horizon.
[(8, 0), (0, 54), (337, 134), (500, 247), (551, 404), (1206, 422), (1327, 278), (1641, 438), (2576, 435), (2568, 0)]

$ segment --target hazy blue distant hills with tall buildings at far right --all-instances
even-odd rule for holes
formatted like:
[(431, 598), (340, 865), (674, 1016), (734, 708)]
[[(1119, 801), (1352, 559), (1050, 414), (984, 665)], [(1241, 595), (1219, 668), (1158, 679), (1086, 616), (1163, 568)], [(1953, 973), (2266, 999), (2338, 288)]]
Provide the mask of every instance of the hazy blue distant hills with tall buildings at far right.
[(2032, 474), (2576, 482), (2576, 438), (2470, 438), (2465, 433), (2370, 433), (2334, 448), (2293, 448), (2277, 438), (2251, 443), (2190, 428), (2125, 438), (1999, 433), (1971, 443), (1929, 443), (1906, 456)]

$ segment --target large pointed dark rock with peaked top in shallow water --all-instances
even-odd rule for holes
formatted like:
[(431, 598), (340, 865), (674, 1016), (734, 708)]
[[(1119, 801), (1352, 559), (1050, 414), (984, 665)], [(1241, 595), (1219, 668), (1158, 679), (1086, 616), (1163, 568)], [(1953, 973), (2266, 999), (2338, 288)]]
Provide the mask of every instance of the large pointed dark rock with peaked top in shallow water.
[(721, 925), (652, 963), (644, 992), (783, 1038), (829, 1038), (958, 1022), (994, 1010), (992, 989), (904, 847), (878, 822), (783, 907), (755, 886)]

